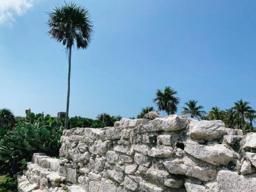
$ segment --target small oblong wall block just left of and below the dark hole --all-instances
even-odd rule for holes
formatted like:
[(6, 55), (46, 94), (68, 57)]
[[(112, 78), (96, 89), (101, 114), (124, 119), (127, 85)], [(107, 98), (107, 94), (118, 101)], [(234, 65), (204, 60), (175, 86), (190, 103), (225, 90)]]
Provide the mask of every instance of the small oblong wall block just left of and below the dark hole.
[(158, 158), (169, 158), (173, 154), (172, 147), (168, 146), (156, 146), (148, 152), (148, 156), (158, 157)]

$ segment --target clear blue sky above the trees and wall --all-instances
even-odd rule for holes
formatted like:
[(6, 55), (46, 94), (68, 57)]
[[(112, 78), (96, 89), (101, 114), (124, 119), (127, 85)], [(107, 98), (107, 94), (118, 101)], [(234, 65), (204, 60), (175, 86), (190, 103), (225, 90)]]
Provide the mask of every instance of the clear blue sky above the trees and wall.
[[(49, 38), (49, 12), (63, 1), (0, 0), (0, 108), (24, 115), (65, 111), (67, 57)], [(256, 1), (81, 0), (94, 23), (74, 50), (70, 115), (136, 116), (158, 88), (210, 110), (243, 98), (256, 108)]]

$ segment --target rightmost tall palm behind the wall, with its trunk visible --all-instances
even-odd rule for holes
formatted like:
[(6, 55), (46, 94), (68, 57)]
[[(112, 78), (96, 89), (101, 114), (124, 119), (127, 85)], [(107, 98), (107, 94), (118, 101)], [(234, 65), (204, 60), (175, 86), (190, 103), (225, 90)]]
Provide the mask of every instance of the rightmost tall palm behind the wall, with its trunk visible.
[(238, 100), (237, 102), (234, 102), (234, 110), (236, 111), (240, 119), (239, 127), (241, 129), (243, 129), (243, 127), (245, 126), (245, 118), (247, 113), (253, 112), (253, 108), (251, 108), (249, 104), (250, 104), (249, 102), (243, 101), (242, 99)]

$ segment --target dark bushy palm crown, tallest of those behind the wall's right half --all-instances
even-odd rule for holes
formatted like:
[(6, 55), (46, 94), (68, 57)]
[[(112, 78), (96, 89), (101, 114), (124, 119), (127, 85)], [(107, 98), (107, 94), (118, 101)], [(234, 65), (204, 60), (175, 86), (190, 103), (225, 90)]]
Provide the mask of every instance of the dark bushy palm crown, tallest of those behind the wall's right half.
[(169, 86), (164, 88), (164, 91), (157, 90), (156, 98), (154, 102), (158, 106), (158, 110), (165, 110), (167, 115), (171, 115), (177, 112), (177, 105), (180, 102), (180, 99), (175, 96), (177, 91), (173, 90)]

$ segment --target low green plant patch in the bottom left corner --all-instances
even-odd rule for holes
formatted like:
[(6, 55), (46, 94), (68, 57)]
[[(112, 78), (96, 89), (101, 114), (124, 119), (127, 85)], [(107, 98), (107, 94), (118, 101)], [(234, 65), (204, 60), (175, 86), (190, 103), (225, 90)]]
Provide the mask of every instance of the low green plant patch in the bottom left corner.
[(0, 192), (16, 192), (17, 181), (7, 176), (0, 176)]

